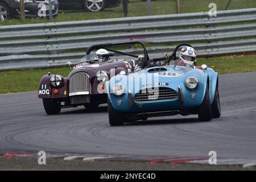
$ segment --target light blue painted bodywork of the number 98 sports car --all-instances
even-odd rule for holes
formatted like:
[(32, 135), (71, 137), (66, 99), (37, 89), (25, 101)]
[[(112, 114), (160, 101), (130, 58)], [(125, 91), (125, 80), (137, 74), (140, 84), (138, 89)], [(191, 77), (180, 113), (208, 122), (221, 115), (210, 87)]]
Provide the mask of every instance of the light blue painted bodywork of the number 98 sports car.
[[(171, 73), (169, 75), (169, 73)], [(195, 89), (188, 89), (185, 80), (189, 77), (196, 77), (199, 84)], [(146, 79), (145, 79), (146, 77)], [(203, 71), (198, 68), (187, 68), (174, 65), (151, 67), (142, 69), (130, 75), (117, 75), (106, 82), (108, 98), (114, 110), (123, 113), (146, 113), (164, 110), (183, 110), (200, 106), (204, 100), (205, 90), (209, 84), (210, 104), (214, 99), (214, 93), (218, 82), (218, 73), (212, 68)], [(113, 85), (121, 83), (125, 86), (125, 93), (116, 96), (112, 93)], [(168, 83), (166, 85), (153, 85), (154, 83)], [(150, 85), (145, 85), (150, 84)], [(156, 88), (156, 86), (174, 89), (178, 93), (178, 88), (182, 90), (183, 103), (179, 98), (173, 100), (152, 100), (137, 102), (134, 100), (135, 94), (145, 88)], [(195, 93), (196, 97), (191, 98)], [(119, 105), (118, 105), (119, 101)], [(120, 101), (122, 104), (120, 105)], [(131, 105), (131, 101), (133, 105)]]

